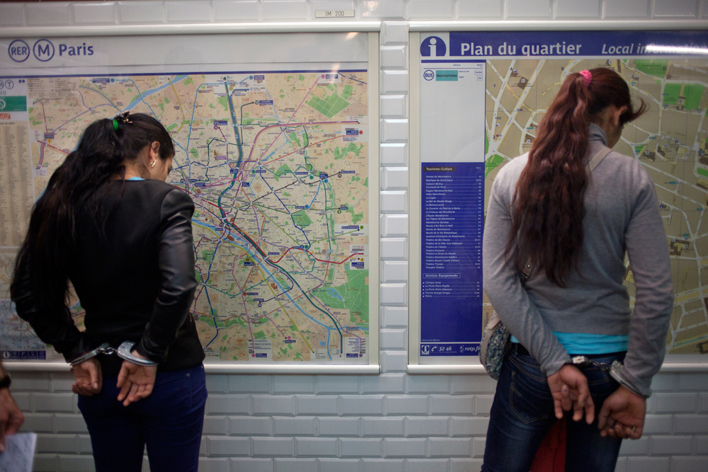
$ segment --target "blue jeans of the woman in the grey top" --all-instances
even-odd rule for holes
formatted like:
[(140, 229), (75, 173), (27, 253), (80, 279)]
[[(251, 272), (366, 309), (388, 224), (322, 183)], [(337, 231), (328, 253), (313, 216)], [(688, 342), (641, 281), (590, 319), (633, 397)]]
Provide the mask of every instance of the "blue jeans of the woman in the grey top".
[[(528, 472), (539, 444), (556, 421), (546, 376), (536, 359), (516, 352), (517, 346), (513, 345), (504, 359), (496, 386), (484, 472)], [(566, 414), (566, 471), (615, 471), (622, 439), (600, 436), (598, 413), (605, 399), (619, 388), (610, 377), (609, 367), (612, 361), (622, 361), (624, 352), (600, 356), (593, 356), (593, 361), (606, 368), (582, 369), (595, 403), (595, 421), (588, 425), (585, 418), (576, 422)]]

